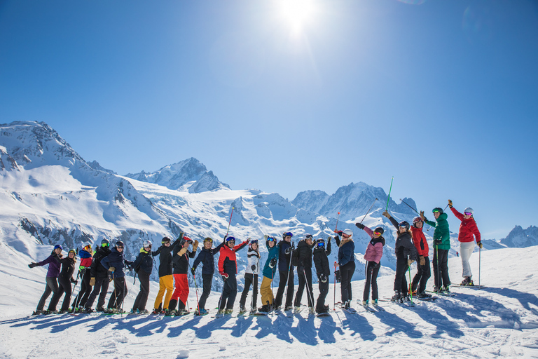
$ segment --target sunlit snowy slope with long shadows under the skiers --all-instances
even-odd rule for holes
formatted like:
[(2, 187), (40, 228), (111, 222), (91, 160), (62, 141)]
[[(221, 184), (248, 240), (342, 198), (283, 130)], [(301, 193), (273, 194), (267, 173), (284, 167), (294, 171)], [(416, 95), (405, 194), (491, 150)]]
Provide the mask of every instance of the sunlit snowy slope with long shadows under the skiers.
[[(488, 287), (454, 287), (455, 297), (414, 308), (381, 302), (386, 311), (369, 313), (354, 300), (358, 313), (332, 311), (331, 285), (326, 299), (331, 316), (325, 318), (304, 310), (291, 318), (283, 313), (235, 318), (239, 293), (234, 316), (223, 318), (29, 316), (45, 287), (46, 269), (28, 269), (21, 257), (5, 253), (0, 280), (9, 285), (0, 294), (1, 358), (538, 358), (538, 247), (489, 250), (481, 269), (481, 284)], [(517, 272), (499, 265), (506, 257), (518, 258)], [(477, 272), (477, 255), (471, 264)], [(449, 268), (456, 283), (460, 258), (449, 259)], [(393, 281), (378, 278), (381, 298), (392, 294)], [(126, 310), (138, 292), (138, 282), (132, 283), (127, 278)], [(364, 280), (352, 283), (354, 299), (363, 289)], [(148, 309), (157, 290), (152, 282)], [(219, 295), (209, 297), (212, 313)], [(188, 306), (195, 307), (194, 288)]]

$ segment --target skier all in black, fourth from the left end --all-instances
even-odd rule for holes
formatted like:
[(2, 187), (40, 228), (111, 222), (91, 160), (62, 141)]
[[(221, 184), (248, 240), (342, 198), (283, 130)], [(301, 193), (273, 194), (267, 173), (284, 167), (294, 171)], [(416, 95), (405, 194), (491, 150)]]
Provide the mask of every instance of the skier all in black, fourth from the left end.
[(84, 306), (85, 313), (92, 312), (92, 305), (93, 302), (95, 302), (97, 295), (99, 295), (99, 300), (97, 300), (97, 311), (104, 311), (104, 298), (106, 297), (106, 291), (109, 290), (109, 271), (101, 265), (101, 260), (111, 253), (109, 247), (109, 240), (103, 238), (101, 247), (97, 249), (93, 256), (92, 265), (90, 266), (90, 285), (93, 286), (93, 290)]

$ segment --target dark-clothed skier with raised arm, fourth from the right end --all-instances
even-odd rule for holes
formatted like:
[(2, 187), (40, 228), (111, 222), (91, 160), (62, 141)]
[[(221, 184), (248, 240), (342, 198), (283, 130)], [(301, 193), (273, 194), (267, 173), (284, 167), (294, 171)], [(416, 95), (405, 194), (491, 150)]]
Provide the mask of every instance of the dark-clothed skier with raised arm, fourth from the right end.
[(403, 302), (411, 300), (411, 293), (408, 293), (406, 271), (411, 263), (418, 259), (417, 248), (413, 244), (413, 233), (411, 233), (409, 222), (396, 222), (396, 219), (389, 215), (389, 212), (383, 212), (392, 225), (396, 228), (398, 236), (394, 243), (394, 252), (396, 253), (396, 275), (394, 276), (394, 297), (393, 302)]

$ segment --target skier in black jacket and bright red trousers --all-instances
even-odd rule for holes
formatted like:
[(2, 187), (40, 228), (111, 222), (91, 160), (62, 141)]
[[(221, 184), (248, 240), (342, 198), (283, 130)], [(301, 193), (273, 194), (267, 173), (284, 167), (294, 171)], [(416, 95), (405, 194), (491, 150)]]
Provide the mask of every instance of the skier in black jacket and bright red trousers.
[[(188, 247), (193, 245), (193, 250), (189, 251)], [(174, 266), (174, 281), (176, 284), (176, 289), (172, 294), (172, 299), (170, 299), (170, 304), (168, 304), (167, 313), (177, 313), (178, 315), (184, 315), (188, 313), (186, 309), (187, 299), (188, 299), (188, 278), (187, 273), (189, 266), (188, 259), (194, 258), (196, 255), (196, 250), (198, 250), (198, 241), (191, 240), (187, 236), (181, 238), (181, 243), (174, 250), (174, 255), (172, 256), (172, 264)], [(177, 304), (177, 312), (176, 312)]]

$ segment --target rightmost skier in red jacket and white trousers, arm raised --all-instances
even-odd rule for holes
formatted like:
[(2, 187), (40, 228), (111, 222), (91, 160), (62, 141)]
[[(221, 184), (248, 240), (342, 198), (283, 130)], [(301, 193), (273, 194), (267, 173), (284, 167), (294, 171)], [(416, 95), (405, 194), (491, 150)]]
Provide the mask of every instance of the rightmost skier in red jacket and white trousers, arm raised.
[(465, 208), (463, 214), (457, 212), (452, 206), (452, 201), (448, 200), (448, 207), (462, 223), (460, 224), (460, 232), (457, 233), (457, 241), (460, 242), (460, 255), (462, 257), (462, 267), (463, 267), (463, 281), (460, 285), (474, 285), (471, 277), (473, 273), (471, 272), (471, 265), (469, 264), (469, 259), (474, 250), (474, 241), (476, 238), (476, 244), (478, 247), (482, 248), (480, 231), (478, 231), (478, 226), (476, 226), (476, 221), (474, 220), (473, 213), (474, 210), (470, 207)]

